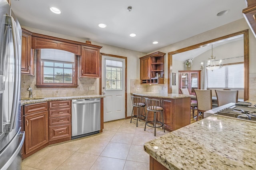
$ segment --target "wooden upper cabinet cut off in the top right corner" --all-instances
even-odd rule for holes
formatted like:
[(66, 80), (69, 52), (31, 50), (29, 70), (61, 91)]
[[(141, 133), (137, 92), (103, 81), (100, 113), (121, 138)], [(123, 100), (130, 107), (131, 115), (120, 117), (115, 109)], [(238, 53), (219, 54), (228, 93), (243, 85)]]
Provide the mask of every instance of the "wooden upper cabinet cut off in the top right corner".
[(256, 37), (256, 0), (247, 0), (248, 7), (243, 9), (244, 18)]

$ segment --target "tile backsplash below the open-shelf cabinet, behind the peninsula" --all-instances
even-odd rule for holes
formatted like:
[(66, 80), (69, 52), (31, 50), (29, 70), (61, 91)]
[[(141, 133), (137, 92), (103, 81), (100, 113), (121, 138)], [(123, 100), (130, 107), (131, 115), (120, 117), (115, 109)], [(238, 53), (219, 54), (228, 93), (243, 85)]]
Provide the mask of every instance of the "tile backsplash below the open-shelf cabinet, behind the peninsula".
[(167, 80), (164, 84), (140, 84), (140, 80), (131, 79), (131, 93), (168, 93)]

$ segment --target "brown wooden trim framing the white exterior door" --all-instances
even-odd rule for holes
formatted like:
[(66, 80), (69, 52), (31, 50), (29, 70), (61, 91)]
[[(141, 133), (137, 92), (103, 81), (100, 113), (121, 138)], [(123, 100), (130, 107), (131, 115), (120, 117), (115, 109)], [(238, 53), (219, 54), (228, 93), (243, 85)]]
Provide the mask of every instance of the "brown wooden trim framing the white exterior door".
[(106, 53), (100, 53), (100, 95), (102, 95), (102, 55), (105, 55), (105, 56), (109, 56), (109, 57), (116, 57), (116, 58), (122, 58), (125, 60), (125, 89), (124, 89), (124, 93), (125, 93), (125, 103), (124, 103), (124, 106), (125, 106), (125, 119), (128, 119), (127, 117), (127, 57), (123, 57), (123, 56), (120, 56), (120, 55), (112, 55), (112, 54), (106, 54)]

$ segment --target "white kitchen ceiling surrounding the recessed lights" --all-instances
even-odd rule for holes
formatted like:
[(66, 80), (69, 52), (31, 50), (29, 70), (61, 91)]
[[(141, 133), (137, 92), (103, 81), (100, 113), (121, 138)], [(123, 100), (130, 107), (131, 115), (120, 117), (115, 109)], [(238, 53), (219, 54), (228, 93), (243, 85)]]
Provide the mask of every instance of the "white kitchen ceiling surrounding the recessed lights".
[[(245, 0), (12, 0), (22, 26), (148, 53), (243, 18)], [(60, 9), (54, 14), (50, 7)], [(132, 11), (128, 12), (128, 6)], [(216, 16), (222, 10), (226, 15)], [(104, 23), (106, 28), (99, 28)], [(130, 37), (131, 33), (136, 37)], [(152, 44), (157, 41), (158, 44)]]

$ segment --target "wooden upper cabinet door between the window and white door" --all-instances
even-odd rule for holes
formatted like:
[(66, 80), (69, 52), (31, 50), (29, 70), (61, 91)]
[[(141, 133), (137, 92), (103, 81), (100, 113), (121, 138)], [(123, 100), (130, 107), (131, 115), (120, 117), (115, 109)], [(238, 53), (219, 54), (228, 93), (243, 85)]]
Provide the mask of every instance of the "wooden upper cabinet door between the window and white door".
[(82, 46), (80, 77), (100, 77), (100, 50)]

